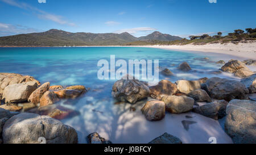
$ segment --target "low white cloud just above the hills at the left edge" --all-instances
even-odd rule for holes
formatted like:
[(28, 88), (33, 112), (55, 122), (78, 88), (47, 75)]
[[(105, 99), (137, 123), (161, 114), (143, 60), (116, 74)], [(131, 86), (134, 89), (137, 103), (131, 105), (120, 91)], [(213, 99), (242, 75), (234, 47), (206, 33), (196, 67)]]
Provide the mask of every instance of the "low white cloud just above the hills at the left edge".
[(39, 32), (39, 30), (21, 25), (0, 23), (0, 36), (10, 36), (32, 32)]

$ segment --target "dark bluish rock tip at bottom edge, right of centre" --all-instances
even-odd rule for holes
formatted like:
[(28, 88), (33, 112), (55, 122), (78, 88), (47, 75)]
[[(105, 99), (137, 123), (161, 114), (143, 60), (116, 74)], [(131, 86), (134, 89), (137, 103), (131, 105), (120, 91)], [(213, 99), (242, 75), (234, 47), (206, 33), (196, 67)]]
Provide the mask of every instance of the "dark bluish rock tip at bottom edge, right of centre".
[(163, 135), (150, 141), (148, 144), (182, 144), (182, 141), (169, 133), (164, 133)]

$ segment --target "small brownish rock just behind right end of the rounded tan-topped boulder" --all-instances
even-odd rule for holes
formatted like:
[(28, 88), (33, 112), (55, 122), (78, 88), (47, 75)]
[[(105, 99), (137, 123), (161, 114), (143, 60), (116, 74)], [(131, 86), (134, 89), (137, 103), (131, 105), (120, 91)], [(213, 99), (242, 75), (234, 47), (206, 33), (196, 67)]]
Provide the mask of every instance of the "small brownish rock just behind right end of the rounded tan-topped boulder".
[(197, 102), (212, 102), (212, 99), (209, 97), (207, 92), (203, 89), (197, 89), (197, 90), (192, 90), (189, 94), (188, 97), (191, 97), (195, 99)]

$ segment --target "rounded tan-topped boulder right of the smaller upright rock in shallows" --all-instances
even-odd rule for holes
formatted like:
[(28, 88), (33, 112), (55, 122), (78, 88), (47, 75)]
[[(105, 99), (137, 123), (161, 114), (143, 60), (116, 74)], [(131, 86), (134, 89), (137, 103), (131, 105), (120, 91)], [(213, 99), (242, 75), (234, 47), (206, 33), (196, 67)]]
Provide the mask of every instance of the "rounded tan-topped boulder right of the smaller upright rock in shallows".
[(195, 102), (186, 96), (164, 96), (162, 100), (166, 104), (166, 110), (174, 114), (191, 111)]

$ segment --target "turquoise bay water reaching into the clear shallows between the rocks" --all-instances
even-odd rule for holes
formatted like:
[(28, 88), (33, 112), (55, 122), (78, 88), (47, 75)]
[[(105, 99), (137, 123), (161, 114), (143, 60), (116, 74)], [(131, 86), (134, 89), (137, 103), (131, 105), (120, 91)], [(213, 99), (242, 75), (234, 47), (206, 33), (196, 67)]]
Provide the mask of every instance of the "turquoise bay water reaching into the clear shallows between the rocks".
[[(140, 111), (145, 101), (134, 105), (114, 104), (116, 100), (112, 98), (111, 91), (115, 80), (101, 81), (97, 78), (98, 60), (106, 59), (110, 62), (110, 55), (115, 55), (116, 60), (122, 58), (126, 61), (158, 59), (160, 67), (168, 68), (176, 75), (164, 77), (159, 74), (160, 80), (168, 79), (172, 82), (178, 79), (214, 77), (216, 75), (209, 72), (221, 67), (211, 60), (203, 60), (206, 57), (204, 55), (156, 48), (0, 48), (0, 72), (33, 76), (41, 83), (50, 82), (51, 85), (89, 87), (90, 91), (82, 97), (57, 103), (79, 111), (80, 115), (61, 122), (77, 130), (80, 143), (86, 143), (85, 136), (91, 132), (98, 132), (113, 143), (148, 143), (163, 132), (180, 137), (184, 143), (208, 143), (209, 136), (220, 137), (220, 143), (232, 143), (218, 122), (192, 112), (181, 115), (166, 114), (166, 118), (159, 122), (148, 122)], [(191, 65), (191, 72), (180, 72), (176, 69), (184, 61)], [(230, 74), (217, 76), (234, 78)], [(130, 107), (135, 107), (136, 110), (130, 111)], [(184, 130), (181, 124), (185, 115), (193, 115), (197, 121), (197, 124), (191, 125), (189, 131)]]

